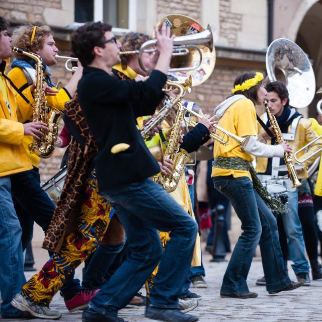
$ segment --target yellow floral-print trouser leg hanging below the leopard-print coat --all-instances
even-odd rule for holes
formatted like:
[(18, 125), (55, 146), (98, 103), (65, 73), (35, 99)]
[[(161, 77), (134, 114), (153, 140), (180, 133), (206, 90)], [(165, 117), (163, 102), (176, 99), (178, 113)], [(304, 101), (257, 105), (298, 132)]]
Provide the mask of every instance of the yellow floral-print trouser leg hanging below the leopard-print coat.
[(76, 220), (76, 231), (65, 237), (59, 253), (54, 253), (41, 271), (23, 287), (22, 295), (35, 304), (48, 306), (66, 277), (94, 252), (110, 222), (112, 207), (98, 192), (93, 175), (87, 180), (86, 199)]

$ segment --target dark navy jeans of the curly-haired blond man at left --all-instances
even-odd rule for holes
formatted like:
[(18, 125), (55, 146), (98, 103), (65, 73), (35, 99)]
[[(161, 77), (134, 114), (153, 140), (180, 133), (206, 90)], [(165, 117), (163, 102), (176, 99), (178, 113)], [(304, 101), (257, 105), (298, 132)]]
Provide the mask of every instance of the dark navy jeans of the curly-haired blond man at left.
[[(34, 221), (46, 233), (55, 205), (40, 186), (39, 169), (33, 168), (11, 176), (11, 190), (18, 218), (22, 227), (22, 246), (31, 242)], [(51, 253), (49, 252), (49, 255)], [(61, 292), (70, 298), (81, 289), (79, 280), (73, 279), (74, 271), (66, 278)]]

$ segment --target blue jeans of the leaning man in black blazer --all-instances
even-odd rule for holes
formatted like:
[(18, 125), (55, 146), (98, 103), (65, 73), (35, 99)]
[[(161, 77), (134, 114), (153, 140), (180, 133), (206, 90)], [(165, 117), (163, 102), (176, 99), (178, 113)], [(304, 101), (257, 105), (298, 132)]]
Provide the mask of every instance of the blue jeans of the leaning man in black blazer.
[[(91, 300), (90, 307), (117, 316), (117, 310), (129, 303), (160, 262), (149, 303), (178, 308), (196, 241), (196, 222), (151, 179), (103, 193), (125, 229), (129, 256)], [(164, 253), (158, 230), (171, 231)]]

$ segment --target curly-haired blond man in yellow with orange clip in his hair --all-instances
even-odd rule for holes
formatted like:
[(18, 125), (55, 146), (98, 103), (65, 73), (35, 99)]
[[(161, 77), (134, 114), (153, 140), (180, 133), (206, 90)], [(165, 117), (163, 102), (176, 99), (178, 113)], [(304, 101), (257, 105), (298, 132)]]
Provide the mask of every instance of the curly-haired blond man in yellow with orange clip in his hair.
[[(76, 90), (78, 80), (82, 76), (82, 66), (79, 66), (66, 86), (57, 91), (51, 81), (52, 72), (50, 66), (57, 63), (55, 55), (58, 53), (58, 48), (55, 46), (51, 29), (46, 25), (39, 27), (31, 25), (21, 26), (13, 32), (13, 45), (24, 51), (38, 54), (41, 57), (43, 81), (54, 93), (52, 96), (47, 96), (47, 106), (52, 106), (62, 111), (64, 104), (71, 99)], [(8, 75), (16, 87), (22, 91), (35, 82), (36, 61), (23, 54), (16, 54), (16, 57)], [(22, 109), (20, 110), (21, 113), (24, 113)], [(26, 122), (29, 122), (29, 120)], [(55, 210), (54, 203), (40, 186), (40, 158), (36, 153), (30, 152), (29, 146), (32, 140), (32, 136), (25, 136), (23, 145), (29, 154), (33, 168), (28, 172), (15, 175), (12, 184), (15, 208), (23, 229), (23, 249), (31, 243), (33, 222), (35, 221), (46, 233)], [(25, 189), (26, 186), (28, 189)], [(73, 275), (72, 273), (67, 278), (61, 290), (67, 306), (68, 302), (66, 301), (72, 298), (79, 301), (79, 297), (85, 296), (85, 294), (77, 293), (81, 292), (81, 285), (79, 285), (78, 280), (73, 279)]]

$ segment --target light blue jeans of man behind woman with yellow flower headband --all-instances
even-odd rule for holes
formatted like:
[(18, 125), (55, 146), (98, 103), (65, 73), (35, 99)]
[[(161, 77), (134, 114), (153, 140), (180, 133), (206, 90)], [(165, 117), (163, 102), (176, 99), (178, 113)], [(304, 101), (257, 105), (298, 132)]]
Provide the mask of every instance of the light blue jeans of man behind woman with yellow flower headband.
[(282, 220), (286, 237), (288, 239), (288, 251), (294, 273), (309, 273), (309, 265), (305, 258), (304, 239), (302, 225), (298, 217), (297, 189), (288, 192), (289, 213), (282, 214)]

